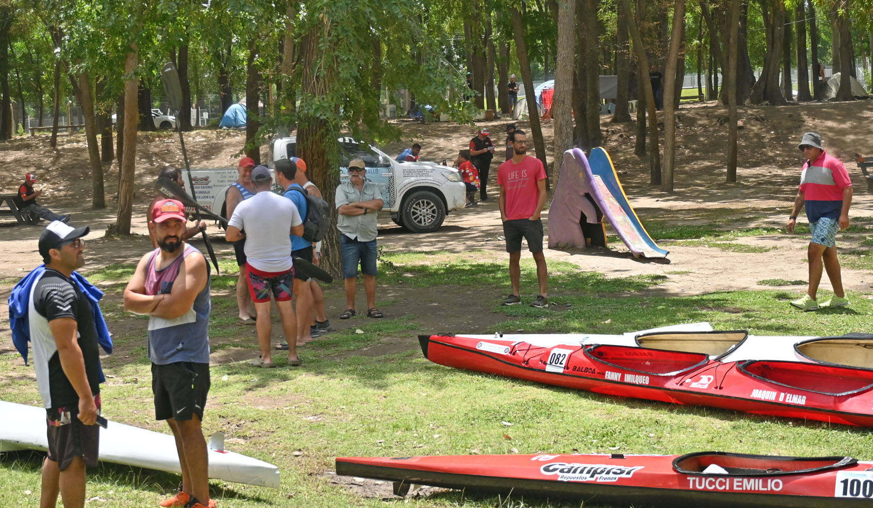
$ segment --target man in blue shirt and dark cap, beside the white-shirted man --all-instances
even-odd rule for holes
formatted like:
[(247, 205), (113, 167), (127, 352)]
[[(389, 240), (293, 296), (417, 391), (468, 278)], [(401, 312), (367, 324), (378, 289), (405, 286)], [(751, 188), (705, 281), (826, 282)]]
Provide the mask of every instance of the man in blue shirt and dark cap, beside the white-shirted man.
[[(276, 183), (285, 189), (285, 197), (290, 199), (297, 207), (300, 217), (306, 220), (306, 190), (297, 182), (297, 164), (288, 159), (276, 161)], [(291, 235), (291, 255), (313, 262), (313, 243), (304, 240), (303, 237)], [(297, 306), (294, 313), (297, 314), (297, 345), (303, 346), (306, 342), (312, 342), (313, 337), (309, 329), (309, 317), (313, 312), (313, 292), (309, 285), (309, 278), (301, 271), (294, 271), (294, 295), (297, 297)], [(287, 345), (280, 344), (278, 349), (285, 349)]]

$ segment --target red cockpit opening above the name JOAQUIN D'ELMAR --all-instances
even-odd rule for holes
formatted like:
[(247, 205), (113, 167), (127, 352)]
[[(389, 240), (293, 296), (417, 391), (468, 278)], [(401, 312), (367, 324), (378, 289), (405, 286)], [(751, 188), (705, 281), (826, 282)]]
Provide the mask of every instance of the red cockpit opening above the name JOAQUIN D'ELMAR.
[(873, 371), (862, 368), (748, 360), (738, 363), (737, 369), (762, 381), (823, 395), (854, 395), (873, 388)]

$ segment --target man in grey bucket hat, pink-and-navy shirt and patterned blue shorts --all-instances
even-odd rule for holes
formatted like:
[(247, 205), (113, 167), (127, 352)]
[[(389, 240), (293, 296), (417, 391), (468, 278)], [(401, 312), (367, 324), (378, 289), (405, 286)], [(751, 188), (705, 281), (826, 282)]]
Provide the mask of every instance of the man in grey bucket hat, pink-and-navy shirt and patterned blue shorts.
[[(804, 311), (815, 311), (821, 307), (843, 307), (849, 305), (849, 299), (842, 291), (840, 262), (836, 258), (836, 232), (849, 227), (852, 182), (842, 162), (826, 154), (821, 148), (819, 134), (803, 134), (798, 148), (807, 161), (803, 165), (801, 187), (794, 198), (794, 209), (788, 217), (787, 230), (789, 233), (794, 232), (797, 214), (806, 206), (812, 241), (809, 242), (807, 251), (807, 294), (792, 301), (791, 305)], [(835, 296), (820, 305), (815, 299), (815, 293), (821, 281), (822, 266), (828, 272)]]

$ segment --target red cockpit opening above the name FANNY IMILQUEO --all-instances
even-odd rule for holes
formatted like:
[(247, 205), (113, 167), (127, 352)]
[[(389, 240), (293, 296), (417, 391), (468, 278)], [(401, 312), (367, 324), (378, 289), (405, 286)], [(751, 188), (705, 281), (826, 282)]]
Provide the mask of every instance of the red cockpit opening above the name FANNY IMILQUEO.
[(588, 358), (623, 370), (651, 375), (676, 375), (702, 367), (709, 361), (705, 353), (663, 351), (644, 347), (596, 344), (582, 348)]

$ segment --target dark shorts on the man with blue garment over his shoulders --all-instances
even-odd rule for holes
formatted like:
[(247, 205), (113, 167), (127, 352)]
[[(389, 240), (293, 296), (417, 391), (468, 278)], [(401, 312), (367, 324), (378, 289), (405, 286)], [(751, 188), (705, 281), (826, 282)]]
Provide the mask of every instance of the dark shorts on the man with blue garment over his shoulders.
[[(100, 395), (95, 397), (100, 413)], [(86, 465), (97, 466), (100, 456), (100, 425), (84, 425), (78, 418), (79, 404), (71, 408), (45, 409), (45, 436), (49, 443), (49, 460), (59, 470), (70, 467), (72, 459), (82, 457)]]

